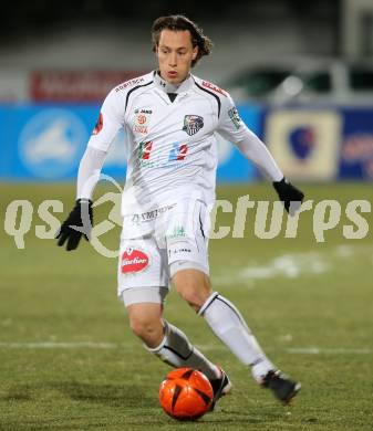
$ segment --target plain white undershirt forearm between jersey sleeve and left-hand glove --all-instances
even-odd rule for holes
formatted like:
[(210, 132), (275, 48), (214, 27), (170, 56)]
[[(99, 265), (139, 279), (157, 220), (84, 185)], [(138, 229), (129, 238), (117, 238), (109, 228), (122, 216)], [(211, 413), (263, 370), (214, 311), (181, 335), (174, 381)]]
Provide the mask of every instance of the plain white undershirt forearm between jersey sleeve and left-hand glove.
[(93, 190), (100, 179), (101, 169), (104, 165), (106, 151), (86, 147), (79, 165), (76, 199), (91, 199)]

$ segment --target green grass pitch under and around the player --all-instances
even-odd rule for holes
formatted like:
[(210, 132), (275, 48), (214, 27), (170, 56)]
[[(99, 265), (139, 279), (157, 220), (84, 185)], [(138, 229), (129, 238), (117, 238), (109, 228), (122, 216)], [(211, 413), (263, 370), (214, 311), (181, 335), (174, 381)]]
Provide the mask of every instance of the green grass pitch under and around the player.
[[(303, 188), (309, 199), (338, 199), (342, 208), (352, 199), (373, 202), (371, 185)], [(372, 430), (372, 213), (364, 214), (370, 232), (363, 240), (343, 238), (343, 224), (351, 224), (343, 216), (325, 232), (325, 242), (317, 243), (312, 213), (302, 214), (297, 239), (284, 239), (283, 228), (274, 240), (260, 240), (249, 210), (244, 239), (210, 241), (215, 288), (240, 308), (269, 357), (303, 388), (291, 407), (278, 404), (172, 292), (167, 319), (205, 346), (235, 386), (213, 414), (183, 423), (159, 408), (158, 385), (168, 368), (129, 332), (116, 298), (116, 260), (101, 256), (85, 241), (66, 253), (53, 240), (38, 239), (34, 227), (44, 223), (37, 211), (24, 250), (3, 231), (10, 201), (28, 199), (38, 208), (44, 199), (61, 199), (65, 214), (73, 193), (68, 185), (0, 186), (1, 431)], [(272, 196), (266, 185), (219, 189), (219, 197), (232, 203), (247, 193), (261, 200)], [(107, 209), (99, 211), (97, 222)], [(220, 212), (218, 221), (232, 225), (232, 216)], [(114, 250), (118, 234), (120, 228), (107, 233), (106, 246)], [(106, 345), (79, 345), (89, 341)]]

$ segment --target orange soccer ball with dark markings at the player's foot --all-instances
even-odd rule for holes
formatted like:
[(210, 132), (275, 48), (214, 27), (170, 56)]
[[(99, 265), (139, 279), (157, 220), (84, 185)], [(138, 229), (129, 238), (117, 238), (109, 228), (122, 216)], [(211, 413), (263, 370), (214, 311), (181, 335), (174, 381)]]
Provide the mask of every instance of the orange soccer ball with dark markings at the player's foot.
[(191, 368), (177, 368), (166, 376), (159, 387), (163, 410), (178, 420), (195, 420), (211, 406), (214, 390), (208, 378)]

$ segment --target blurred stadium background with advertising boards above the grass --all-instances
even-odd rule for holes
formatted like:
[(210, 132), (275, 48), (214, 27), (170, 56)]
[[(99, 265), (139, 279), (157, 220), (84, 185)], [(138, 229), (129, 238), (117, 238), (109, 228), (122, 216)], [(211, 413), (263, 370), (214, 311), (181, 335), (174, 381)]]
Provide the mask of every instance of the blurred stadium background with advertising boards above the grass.
[[(231, 92), (289, 177), (373, 177), (372, 0), (14, 0), (2, 13), (1, 180), (73, 180), (103, 98), (155, 67), (152, 22), (169, 13), (213, 39), (194, 73)], [(105, 167), (116, 178), (122, 143), (118, 135)], [(219, 182), (257, 178), (221, 139)]]

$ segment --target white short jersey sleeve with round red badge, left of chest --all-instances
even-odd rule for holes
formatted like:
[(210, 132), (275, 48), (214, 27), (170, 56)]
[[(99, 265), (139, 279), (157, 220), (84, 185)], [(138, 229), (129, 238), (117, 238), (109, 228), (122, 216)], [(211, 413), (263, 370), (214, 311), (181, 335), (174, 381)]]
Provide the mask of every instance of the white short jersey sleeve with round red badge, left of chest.
[(124, 125), (123, 99), (113, 88), (106, 96), (97, 123), (89, 140), (89, 147), (108, 151), (118, 129)]

